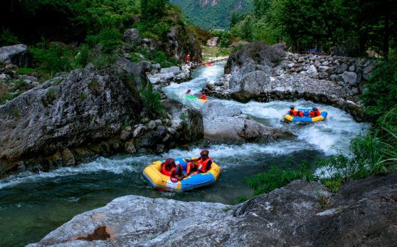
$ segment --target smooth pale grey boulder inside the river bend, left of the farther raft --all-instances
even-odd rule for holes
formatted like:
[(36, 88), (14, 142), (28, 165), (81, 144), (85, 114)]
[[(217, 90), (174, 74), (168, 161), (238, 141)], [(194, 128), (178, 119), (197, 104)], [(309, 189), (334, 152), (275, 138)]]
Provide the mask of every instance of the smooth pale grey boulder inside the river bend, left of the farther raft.
[(202, 107), (201, 112), (203, 113), (204, 137), (213, 142), (270, 142), (293, 137), (290, 132), (249, 120), (245, 115), (241, 115), (238, 107), (215, 102)]

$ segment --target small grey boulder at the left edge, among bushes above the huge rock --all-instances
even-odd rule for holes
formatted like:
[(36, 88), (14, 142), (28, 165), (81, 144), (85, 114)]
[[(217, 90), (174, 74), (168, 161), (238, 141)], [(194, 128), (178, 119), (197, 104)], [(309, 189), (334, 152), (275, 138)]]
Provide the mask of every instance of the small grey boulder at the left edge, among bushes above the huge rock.
[(0, 47), (0, 63), (12, 63), (18, 65), (18, 67), (28, 67), (28, 46), (19, 44)]

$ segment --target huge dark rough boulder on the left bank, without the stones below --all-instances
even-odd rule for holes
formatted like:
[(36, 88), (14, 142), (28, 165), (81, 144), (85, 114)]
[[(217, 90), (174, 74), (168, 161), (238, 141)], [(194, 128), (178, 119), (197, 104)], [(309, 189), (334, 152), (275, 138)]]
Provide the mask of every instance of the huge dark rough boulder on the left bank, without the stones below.
[(16, 160), (78, 147), (120, 132), (142, 101), (116, 68), (73, 70), (0, 107), (0, 159)]

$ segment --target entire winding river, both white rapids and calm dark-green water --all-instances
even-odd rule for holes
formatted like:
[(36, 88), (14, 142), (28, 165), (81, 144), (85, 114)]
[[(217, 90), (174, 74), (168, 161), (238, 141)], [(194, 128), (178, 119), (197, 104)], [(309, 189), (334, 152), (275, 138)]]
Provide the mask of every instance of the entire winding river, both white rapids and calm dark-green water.
[[(208, 82), (223, 75), (225, 63), (197, 68), (193, 79), (164, 88), (169, 98), (192, 107), (204, 103), (184, 98), (191, 89), (198, 93)], [(98, 157), (77, 167), (61, 167), (51, 172), (33, 174), (23, 172), (0, 180), (0, 246), (24, 246), (39, 241), (43, 236), (70, 220), (73, 216), (105, 206), (109, 201), (128, 194), (169, 198), (183, 201), (213, 201), (235, 204), (252, 195), (245, 178), (263, 172), (272, 164), (297, 164), (302, 160), (327, 157), (337, 152), (348, 152), (349, 141), (368, 125), (357, 123), (344, 111), (327, 105), (316, 105), (329, 113), (327, 121), (311, 125), (292, 125), (282, 121), (291, 104), (312, 107), (311, 102), (273, 101), (271, 103), (238, 103), (221, 101), (240, 107), (244, 114), (259, 122), (281, 127), (297, 135), (297, 140), (268, 144), (202, 144), (189, 149), (172, 149), (161, 155), (129, 155), (110, 158)], [(142, 179), (142, 170), (154, 160), (167, 157), (196, 156), (201, 148), (210, 150), (210, 156), (221, 165), (223, 174), (211, 187), (186, 193), (155, 191)]]

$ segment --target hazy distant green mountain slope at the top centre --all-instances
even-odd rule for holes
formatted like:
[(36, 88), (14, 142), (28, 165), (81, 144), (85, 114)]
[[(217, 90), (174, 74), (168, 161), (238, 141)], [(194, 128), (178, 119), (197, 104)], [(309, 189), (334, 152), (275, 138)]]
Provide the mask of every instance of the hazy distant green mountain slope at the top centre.
[(171, 0), (181, 7), (184, 15), (201, 28), (229, 28), (231, 13), (243, 13), (252, 8), (250, 0)]

